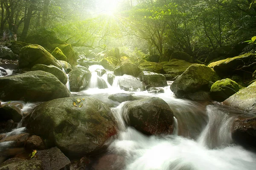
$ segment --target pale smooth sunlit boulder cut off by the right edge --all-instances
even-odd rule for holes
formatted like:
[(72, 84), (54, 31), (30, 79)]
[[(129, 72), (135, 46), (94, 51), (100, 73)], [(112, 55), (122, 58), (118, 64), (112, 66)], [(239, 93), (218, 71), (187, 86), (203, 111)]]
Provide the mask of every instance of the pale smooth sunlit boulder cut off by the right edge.
[(256, 82), (233, 94), (223, 103), (256, 114)]

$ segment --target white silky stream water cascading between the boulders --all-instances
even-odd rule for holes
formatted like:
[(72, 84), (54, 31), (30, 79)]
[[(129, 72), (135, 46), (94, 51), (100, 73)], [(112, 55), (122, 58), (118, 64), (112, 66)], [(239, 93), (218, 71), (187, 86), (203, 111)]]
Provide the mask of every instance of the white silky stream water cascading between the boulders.
[[(255, 170), (256, 153), (234, 144), (231, 137), (233, 121), (239, 116), (253, 117), (253, 114), (238, 111), (218, 102), (195, 102), (177, 99), (164, 87), (162, 94), (149, 94), (147, 91), (124, 91), (114, 79), (109, 85), (106, 74), (99, 76), (96, 69), (101, 66), (90, 66), (93, 78), (90, 88), (72, 92), (73, 96), (93, 96), (112, 106), (111, 110), (118, 122), (119, 133), (110, 142), (108, 153), (124, 158), (124, 170)], [(125, 77), (127, 75), (124, 75)], [(108, 88), (97, 88), (98, 79), (103, 79)], [(171, 82), (169, 82), (170, 84)], [(127, 93), (136, 99), (159, 97), (174, 112), (174, 132), (172, 135), (146, 136), (133, 127), (125, 125), (122, 118), (125, 102), (119, 103), (108, 99), (116, 93)], [(27, 104), (24, 110), (35, 107)], [(26, 110), (27, 111), (27, 110)], [(11, 133), (19, 133), (17, 129)], [(10, 133), (10, 134), (11, 134)], [(0, 144), (0, 148), (9, 143)], [(113, 163), (115, 164), (115, 163)]]

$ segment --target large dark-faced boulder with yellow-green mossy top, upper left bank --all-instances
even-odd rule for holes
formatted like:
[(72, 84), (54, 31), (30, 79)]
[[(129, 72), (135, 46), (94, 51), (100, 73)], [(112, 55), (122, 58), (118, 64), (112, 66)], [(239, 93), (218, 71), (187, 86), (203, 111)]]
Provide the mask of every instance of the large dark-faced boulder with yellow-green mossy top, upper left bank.
[(44, 47), (37, 44), (27, 45), (20, 50), (19, 68), (32, 68), (36, 64), (54, 65), (62, 68)]

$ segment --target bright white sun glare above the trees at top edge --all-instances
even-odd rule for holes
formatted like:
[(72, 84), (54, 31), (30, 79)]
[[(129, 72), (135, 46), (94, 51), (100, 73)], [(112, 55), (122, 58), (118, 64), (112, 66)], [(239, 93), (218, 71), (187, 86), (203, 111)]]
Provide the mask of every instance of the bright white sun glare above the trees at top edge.
[(97, 3), (99, 13), (113, 15), (117, 10), (117, 0), (100, 0)]

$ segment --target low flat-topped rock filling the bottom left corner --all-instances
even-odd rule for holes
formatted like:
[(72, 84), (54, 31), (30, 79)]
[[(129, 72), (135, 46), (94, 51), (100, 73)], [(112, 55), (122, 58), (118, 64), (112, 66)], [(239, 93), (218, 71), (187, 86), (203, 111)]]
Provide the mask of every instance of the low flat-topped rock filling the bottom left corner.
[(43, 170), (42, 161), (12, 158), (0, 164), (0, 170)]

